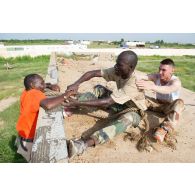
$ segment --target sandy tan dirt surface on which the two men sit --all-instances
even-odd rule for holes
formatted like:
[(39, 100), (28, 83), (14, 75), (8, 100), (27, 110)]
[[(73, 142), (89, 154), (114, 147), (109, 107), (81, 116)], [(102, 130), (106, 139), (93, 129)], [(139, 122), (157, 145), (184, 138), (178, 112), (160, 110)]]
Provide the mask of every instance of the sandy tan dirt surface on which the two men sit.
[[(59, 62), (59, 85), (62, 91), (69, 84), (76, 81), (83, 73), (89, 70), (112, 67), (114, 61), (103, 56), (97, 62), (93, 61), (73, 61), (62, 60)], [(143, 74), (143, 73), (140, 73)], [(106, 84), (102, 78), (93, 78), (81, 84), (79, 92), (92, 91), (96, 84)], [(71, 159), (70, 162), (131, 162), (131, 163), (147, 163), (147, 162), (195, 162), (195, 93), (182, 88), (181, 98), (185, 102), (185, 110), (178, 127), (176, 149), (168, 147), (166, 144), (155, 144), (155, 150), (152, 152), (139, 152), (136, 148), (137, 142), (124, 140), (124, 133), (116, 136), (112, 141), (93, 148), (88, 148), (82, 155)], [(101, 111), (100, 111), (101, 114)], [(105, 114), (105, 113), (103, 113)], [(150, 128), (155, 127), (162, 118), (156, 115), (148, 115)], [(107, 121), (102, 121), (97, 117), (92, 117), (81, 112), (73, 114), (71, 117), (65, 118), (65, 134), (67, 139), (78, 138), (81, 135), (88, 135), (90, 132), (105, 126)], [(128, 131), (140, 131), (139, 129), (129, 129)], [(84, 133), (85, 132), (85, 133)], [(83, 134), (84, 133), (84, 134)]]

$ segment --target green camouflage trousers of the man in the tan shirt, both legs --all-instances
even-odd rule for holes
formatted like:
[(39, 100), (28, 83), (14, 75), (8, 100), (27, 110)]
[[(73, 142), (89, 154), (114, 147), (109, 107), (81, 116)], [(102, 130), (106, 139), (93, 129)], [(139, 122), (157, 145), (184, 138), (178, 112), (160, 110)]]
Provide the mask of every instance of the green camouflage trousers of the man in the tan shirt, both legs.
[[(107, 88), (97, 85), (94, 87), (94, 94), (86, 93), (79, 97), (80, 101), (106, 98), (110, 96), (112, 92)], [(109, 107), (115, 113), (126, 109), (126, 105), (113, 104)], [(120, 115), (114, 122), (107, 127), (97, 130), (90, 137), (95, 140), (96, 144), (103, 144), (109, 139), (114, 138), (117, 134), (126, 131), (129, 127), (137, 127), (141, 121), (141, 116), (136, 112), (127, 112)]]

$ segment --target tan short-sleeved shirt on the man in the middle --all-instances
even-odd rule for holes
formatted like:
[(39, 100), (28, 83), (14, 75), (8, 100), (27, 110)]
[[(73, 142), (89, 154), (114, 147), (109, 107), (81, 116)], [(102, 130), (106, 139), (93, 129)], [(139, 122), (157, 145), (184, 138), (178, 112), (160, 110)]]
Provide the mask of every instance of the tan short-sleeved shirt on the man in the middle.
[(115, 81), (117, 89), (115, 89), (111, 97), (118, 104), (131, 105), (133, 101), (141, 110), (146, 110), (145, 96), (142, 90), (139, 90), (135, 84), (135, 73), (128, 79), (122, 79), (115, 74), (114, 68), (102, 69), (101, 75), (106, 81)]

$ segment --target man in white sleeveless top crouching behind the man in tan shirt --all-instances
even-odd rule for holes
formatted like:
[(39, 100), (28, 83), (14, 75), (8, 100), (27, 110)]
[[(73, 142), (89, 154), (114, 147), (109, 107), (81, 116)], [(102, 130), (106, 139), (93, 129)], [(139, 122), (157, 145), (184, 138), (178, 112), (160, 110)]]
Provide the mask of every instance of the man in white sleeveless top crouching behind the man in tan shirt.
[(154, 133), (159, 142), (163, 142), (166, 134), (174, 130), (184, 109), (184, 102), (179, 98), (181, 81), (173, 75), (174, 67), (172, 59), (164, 59), (160, 62), (159, 73), (146, 75), (136, 82), (139, 89), (156, 92), (156, 99), (146, 98), (148, 110), (166, 115)]

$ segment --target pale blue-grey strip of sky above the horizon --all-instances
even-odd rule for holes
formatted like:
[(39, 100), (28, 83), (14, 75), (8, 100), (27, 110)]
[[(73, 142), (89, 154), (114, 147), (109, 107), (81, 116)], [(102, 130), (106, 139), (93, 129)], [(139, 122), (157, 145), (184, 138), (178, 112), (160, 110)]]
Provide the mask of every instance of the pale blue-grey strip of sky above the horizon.
[(120, 40), (195, 43), (195, 33), (0, 33), (0, 39)]

